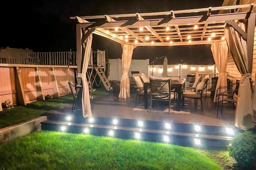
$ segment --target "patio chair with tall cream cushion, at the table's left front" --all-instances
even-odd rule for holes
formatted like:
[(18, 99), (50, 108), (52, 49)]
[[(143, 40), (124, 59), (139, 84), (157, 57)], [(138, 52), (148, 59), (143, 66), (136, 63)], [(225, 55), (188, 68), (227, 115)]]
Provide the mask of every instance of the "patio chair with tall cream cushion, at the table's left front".
[[(140, 97), (144, 97), (144, 84), (142, 83), (142, 79), (140, 78), (140, 74), (133, 74), (132, 75), (134, 82), (135, 82), (135, 89), (136, 89), (136, 101), (135, 105), (140, 104)], [(150, 95), (150, 89), (147, 89), (147, 94)], [(138, 101), (139, 100), (139, 101)]]

